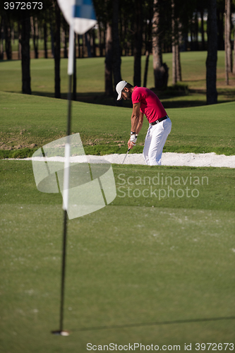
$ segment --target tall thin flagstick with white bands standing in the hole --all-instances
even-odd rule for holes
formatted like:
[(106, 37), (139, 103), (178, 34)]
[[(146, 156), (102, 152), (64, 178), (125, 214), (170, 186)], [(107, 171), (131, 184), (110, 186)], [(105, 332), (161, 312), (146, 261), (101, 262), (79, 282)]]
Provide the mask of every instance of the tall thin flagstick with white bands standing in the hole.
[(62, 263), (61, 263), (61, 305), (59, 316), (59, 330), (52, 331), (55, 335), (68, 336), (69, 333), (64, 331), (64, 287), (66, 275), (66, 236), (67, 236), (67, 210), (68, 210), (68, 190), (69, 190), (69, 159), (70, 159), (70, 133), (71, 133), (71, 92), (73, 77), (73, 52), (74, 52), (74, 25), (69, 28), (69, 52), (68, 52), (68, 119), (67, 119), (67, 141), (65, 146), (65, 162), (64, 162), (64, 190), (63, 190), (63, 210), (64, 210), (64, 234), (62, 246)]

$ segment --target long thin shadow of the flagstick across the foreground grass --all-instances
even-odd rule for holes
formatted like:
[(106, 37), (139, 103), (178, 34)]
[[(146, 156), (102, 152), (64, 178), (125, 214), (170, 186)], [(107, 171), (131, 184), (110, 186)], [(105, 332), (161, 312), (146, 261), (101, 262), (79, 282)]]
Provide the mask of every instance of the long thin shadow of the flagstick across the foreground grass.
[(78, 328), (77, 330), (71, 330), (72, 332), (78, 331), (92, 331), (92, 330), (109, 330), (116, 328), (138, 328), (141, 326), (155, 326), (155, 325), (172, 325), (175, 323), (200, 323), (205, 321), (220, 321), (220, 320), (235, 320), (235, 316), (228, 316), (222, 318), (194, 318), (189, 320), (175, 320), (175, 321), (157, 321), (155, 323), (130, 323), (126, 325), (110, 325), (110, 326), (97, 326), (93, 328)]

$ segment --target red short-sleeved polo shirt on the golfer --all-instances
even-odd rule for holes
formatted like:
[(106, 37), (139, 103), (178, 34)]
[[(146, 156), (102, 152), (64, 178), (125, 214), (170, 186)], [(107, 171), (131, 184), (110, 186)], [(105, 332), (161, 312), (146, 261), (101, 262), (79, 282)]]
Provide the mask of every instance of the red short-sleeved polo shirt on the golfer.
[(148, 88), (135, 86), (131, 100), (133, 104), (140, 103), (140, 112), (150, 123), (167, 115), (157, 95)]

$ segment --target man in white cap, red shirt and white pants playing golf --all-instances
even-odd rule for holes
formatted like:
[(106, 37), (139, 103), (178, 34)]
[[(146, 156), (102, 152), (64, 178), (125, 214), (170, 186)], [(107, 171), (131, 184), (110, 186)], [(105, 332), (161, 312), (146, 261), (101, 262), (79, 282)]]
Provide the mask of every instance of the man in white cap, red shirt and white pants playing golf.
[(147, 165), (161, 165), (162, 149), (171, 131), (171, 120), (167, 116), (162, 103), (152, 90), (138, 87), (120, 81), (116, 85), (117, 100), (132, 100), (133, 112), (131, 115), (131, 138), (128, 140), (128, 148), (135, 146), (138, 133), (143, 126), (145, 114), (150, 123), (145, 137), (143, 157)]

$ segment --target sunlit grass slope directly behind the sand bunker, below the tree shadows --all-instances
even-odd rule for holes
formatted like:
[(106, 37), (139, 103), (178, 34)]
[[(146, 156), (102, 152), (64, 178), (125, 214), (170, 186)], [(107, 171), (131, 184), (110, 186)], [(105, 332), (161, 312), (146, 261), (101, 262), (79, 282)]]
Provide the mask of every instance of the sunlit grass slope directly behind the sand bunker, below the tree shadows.
[[(1, 158), (27, 157), (52, 140), (66, 136), (67, 102), (49, 97), (0, 92)], [(203, 107), (167, 109), (172, 130), (164, 152), (215, 152), (234, 155), (235, 102)], [(91, 155), (125, 153), (131, 109), (73, 102), (72, 132), (80, 133)], [(138, 145), (142, 152), (147, 119)]]

